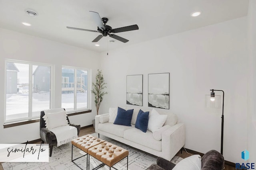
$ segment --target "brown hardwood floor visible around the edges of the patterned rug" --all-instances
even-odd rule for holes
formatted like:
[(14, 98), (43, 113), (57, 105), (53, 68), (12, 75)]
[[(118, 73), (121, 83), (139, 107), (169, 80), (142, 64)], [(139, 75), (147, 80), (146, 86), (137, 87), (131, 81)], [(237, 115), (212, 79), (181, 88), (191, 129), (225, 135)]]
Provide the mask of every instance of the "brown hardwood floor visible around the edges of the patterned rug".
[[(87, 128), (84, 128), (84, 129), (81, 129), (81, 130), (80, 130), (79, 137), (84, 136), (84, 135), (87, 135), (87, 134), (90, 134), (90, 133), (94, 133), (94, 132), (95, 132), (95, 130), (94, 130), (93, 127), (87, 127)], [(191, 154), (186, 153), (185, 151), (182, 151), (182, 153), (181, 153), (181, 152), (178, 152), (178, 153), (176, 154), (176, 156), (180, 156), (180, 157), (182, 157), (182, 158), (186, 158), (186, 157), (188, 157), (188, 156), (191, 156)], [(2, 162), (0, 162), (0, 163), (2, 163)], [(152, 163), (154, 163), (154, 162), (152, 162)], [(234, 167), (232, 167), (232, 166), (225, 165), (225, 170), (235, 170), (235, 169), (236, 169), (236, 168), (234, 168)], [(0, 170), (4, 170), (3, 167), (2, 167), (2, 164), (1, 164), (1, 166), (0, 166)]]

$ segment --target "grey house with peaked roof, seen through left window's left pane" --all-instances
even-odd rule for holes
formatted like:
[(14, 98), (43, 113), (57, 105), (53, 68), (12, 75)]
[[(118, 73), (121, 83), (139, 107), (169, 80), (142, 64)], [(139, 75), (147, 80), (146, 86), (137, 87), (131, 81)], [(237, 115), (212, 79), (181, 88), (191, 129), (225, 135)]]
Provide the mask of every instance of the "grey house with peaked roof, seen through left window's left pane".
[(6, 64), (6, 93), (17, 93), (17, 73), (18, 68), (14, 63)]

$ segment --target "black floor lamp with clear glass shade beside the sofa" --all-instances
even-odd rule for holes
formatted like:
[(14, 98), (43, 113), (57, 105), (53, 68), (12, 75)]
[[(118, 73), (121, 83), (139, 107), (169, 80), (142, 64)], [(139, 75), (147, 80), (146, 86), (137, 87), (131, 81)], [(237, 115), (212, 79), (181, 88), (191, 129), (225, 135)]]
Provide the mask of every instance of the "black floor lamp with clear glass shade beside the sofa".
[(222, 101), (222, 116), (221, 116), (221, 147), (220, 153), (223, 155), (223, 129), (224, 129), (224, 91), (223, 90), (210, 90), (212, 91), (210, 95), (205, 95), (205, 106), (208, 108), (220, 108), (220, 95), (215, 95), (214, 91), (223, 92), (223, 101)]

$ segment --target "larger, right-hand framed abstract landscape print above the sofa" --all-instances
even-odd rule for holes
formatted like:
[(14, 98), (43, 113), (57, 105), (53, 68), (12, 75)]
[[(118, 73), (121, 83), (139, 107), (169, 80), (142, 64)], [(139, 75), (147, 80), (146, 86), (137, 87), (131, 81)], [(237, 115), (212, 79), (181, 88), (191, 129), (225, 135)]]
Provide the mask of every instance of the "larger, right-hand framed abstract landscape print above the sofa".
[(169, 109), (170, 73), (148, 74), (148, 107)]

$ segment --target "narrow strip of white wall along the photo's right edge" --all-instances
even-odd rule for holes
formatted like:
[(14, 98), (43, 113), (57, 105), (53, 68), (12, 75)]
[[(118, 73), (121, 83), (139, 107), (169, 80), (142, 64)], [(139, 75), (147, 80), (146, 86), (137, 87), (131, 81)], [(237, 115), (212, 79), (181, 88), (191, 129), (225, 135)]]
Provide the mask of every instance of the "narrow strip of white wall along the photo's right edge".
[(248, 82), (248, 162), (256, 162), (256, 1), (250, 0), (248, 6), (248, 52), (249, 52), (249, 82)]

